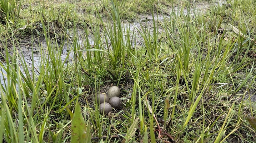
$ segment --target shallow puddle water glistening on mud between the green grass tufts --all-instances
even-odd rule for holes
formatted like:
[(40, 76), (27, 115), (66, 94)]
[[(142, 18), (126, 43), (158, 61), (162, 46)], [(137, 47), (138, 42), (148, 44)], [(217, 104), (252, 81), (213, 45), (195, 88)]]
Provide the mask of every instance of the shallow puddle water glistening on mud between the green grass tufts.
[[(224, 5), (224, 4), (226, 4), (226, 0), (218, 0), (217, 2), (215, 2), (213, 4), (214, 5)], [(194, 9), (191, 10), (191, 15), (193, 15), (194, 11), (199, 11), (199, 12), (204, 13), (209, 8), (209, 6), (210, 6), (209, 3), (197, 2), (192, 6), (192, 8), (194, 7)], [(176, 12), (176, 15), (180, 14), (180, 8), (175, 7), (174, 10)], [(171, 10), (169, 12), (171, 12)], [(185, 15), (187, 15), (187, 12), (188, 12), (187, 9), (183, 9), (183, 13)], [(154, 15), (155, 21), (164, 21), (165, 18), (166, 19), (170, 18), (170, 15)], [(125, 22), (123, 25), (124, 25), (123, 29), (124, 29), (125, 33), (127, 33), (127, 29), (130, 29), (131, 33), (134, 32), (134, 34), (136, 35), (135, 36), (136, 45), (140, 45), (140, 46), (143, 45), (143, 38), (140, 34), (142, 27), (150, 29), (151, 34), (153, 33), (153, 30), (154, 30), (153, 16), (152, 15), (141, 15), (139, 22), (132, 22), (132, 23)], [(164, 31), (164, 29), (159, 27), (158, 32), (161, 33), (163, 31)], [(81, 47), (84, 47), (84, 43), (86, 43), (84, 33), (82, 32), (81, 29), (78, 29), (77, 32), (79, 34), (78, 43), (80, 44)], [(104, 36), (102, 36), (102, 41), (104, 42), (104, 40), (105, 40)], [(29, 68), (30, 75), (32, 75), (32, 68), (34, 68), (34, 70), (39, 70), (39, 67), (41, 66), (40, 63), (41, 63), (42, 57), (41, 57), (40, 51), (43, 50), (45, 56), (46, 57), (48, 56), (47, 49), (39, 49), (39, 47), (40, 47), (39, 43), (41, 44), (41, 47), (44, 47), (44, 48), (47, 47), (46, 41), (41, 38), (41, 39), (36, 39), (32, 43), (31, 39), (25, 38), (25, 39), (21, 40), (20, 43), (21, 44), (19, 46), (19, 48), (20, 48), (19, 53), (23, 54), (25, 63), (27, 65), (27, 67)], [(94, 45), (94, 36), (92, 34), (89, 35), (89, 43), (91, 45)], [(32, 48), (31, 48), (31, 45), (33, 45)], [(135, 45), (133, 45), (133, 46), (135, 46)], [(106, 49), (107, 49), (107, 46), (106, 46), (105, 50)], [(32, 53), (34, 54), (33, 58), (32, 58)], [(69, 57), (67, 57), (67, 56), (69, 56)], [(66, 61), (72, 62), (72, 61), (74, 61), (74, 52), (72, 52), (72, 45), (71, 44), (65, 44), (63, 46), (60, 58), (61, 58), (62, 62), (66, 62)], [(66, 60), (67, 58), (68, 58), (68, 60)], [(32, 67), (33, 64), (34, 64), (34, 67)], [(67, 64), (67, 63), (65, 63), (65, 64)], [(23, 74), (25, 74), (24, 69), (22, 67), (20, 67), (20, 69), (21, 69), (21, 72)], [(7, 81), (6, 81), (7, 73), (2, 67), (0, 67), (0, 71), (2, 72), (2, 73), (0, 73), (0, 82), (1, 82), (2, 85), (5, 85), (5, 84), (7, 84)], [(256, 101), (256, 95), (254, 96), (253, 99), (255, 99), (254, 101)]]

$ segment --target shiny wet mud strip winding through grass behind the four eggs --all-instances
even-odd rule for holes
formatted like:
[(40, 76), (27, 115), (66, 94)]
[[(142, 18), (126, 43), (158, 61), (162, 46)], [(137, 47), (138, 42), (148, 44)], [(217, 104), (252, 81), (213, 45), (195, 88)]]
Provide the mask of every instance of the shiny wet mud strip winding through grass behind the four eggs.
[[(192, 6), (192, 10), (191, 10), (191, 15), (193, 16), (194, 13), (204, 13), (209, 7), (210, 5), (224, 5), (226, 4), (225, 0), (219, 0), (217, 2), (211, 3), (209, 4), (208, 2), (194, 2), (193, 6)], [(164, 20), (168, 20), (170, 18), (170, 12), (174, 10), (176, 15), (180, 14), (181, 11), (181, 7), (180, 6), (175, 6), (174, 9), (172, 9), (172, 7), (170, 6), (169, 9), (167, 9), (166, 11), (163, 11), (162, 15), (161, 13), (154, 13), (155, 15), (155, 21), (156, 22), (163, 22)], [(183, 13), (185, 15), (187, 15), (187, 9), (183, 9), (182, 10)], [(38, 23), (39, 27), (41, 27), (41, 24)], [(141, 32), (141, 26), (142, 27), (147, 27), (149, 29), (151, 29), (151, 31), (153, 31), (153, 16), (151, 14), (145, 14), (145, 15), (139, 15), (139, 18), (135, 21), (135, 22), (131, 22), (131, 21), (124, 21), (124, 29), (129, 28), (131, 30), (134, 30), (134, 32), (137, 34), (137, 39), (136, 42), (138, 42), (137, 44), (142, 45), (143, 44), (143, 38), (140, 36), (139, 32)], [(18, 29), (20, 30), (20, 29)], [(36, 31), (40, 31), (39, 29), (36, 29)], [(163, 32), (163, 29), (161, 28), (161, 26), (159, 27), (159, 32)], [(70, 33), (70, 38), (74, 37), (74, 33), (69, 32)], [(77, 29), (77, 33), (79, 35), (79, 43), (82, 45), (84, 44), (86, 41), (85, 36), (84, 36), (84, 32), (82, 29)], [(93, 45), (94, 44), (94, 38), (93, 35), (91, 33), (89, 33), (89, 42)], [(23, 37), (22, 39), (19, 39), (19, 46), (16, 45), (16, 48), (19, 50), (20, 53), (23, 54), (24, 59), (27, 63), (28, 66), (31, 67), (32, 65), (32, 53), (34, 55), (34, 64), (35, 66), (39, 66), (39, 60), (41, 57), (40, 51), (40, 45), (42, 45), (43, 47), (47, 47), (46, 45), (46, 40), (44, 37), (38, 37), (35, 38), (34, 41), (31, 41), (31, 37)], [(11, 48), (11, 45), (10, 45)], [(72, 43), (70, 44), (66, 44), (64, 45), (63, 51), (61, 51), (61, 56), (62, 56), (62, 61), (64, 61), (67, 57), (67, 52), (72, 49)], [(47, 55), (47, 49), (44, 49), (44, 52), (46, 52)], [(72, 59), (74, 55), (70, 55), (70, 60)], [(1, 78), (2, 79), (2, 78)]]

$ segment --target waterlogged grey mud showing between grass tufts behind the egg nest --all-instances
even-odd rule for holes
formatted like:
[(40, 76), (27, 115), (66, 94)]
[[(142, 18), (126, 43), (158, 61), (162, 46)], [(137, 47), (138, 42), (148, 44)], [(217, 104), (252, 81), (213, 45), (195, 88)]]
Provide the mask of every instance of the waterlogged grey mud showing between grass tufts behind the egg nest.
[[(208, 2), (194, 2), (191, 3), (192, 7), (190, 10), (191, 16), (193, 18), (193, 16), (195, 14), (204, 14), (206, 12), (207, 9), (209, 9), (209, 7), (211, 5), (223, 5), (223, 6), (230, 6), (230, 4), (228, 4), (225, 0), (219, 0), (217, 2), (213, 2), (213, 3), (208, 3)], [(161, 27), (161, 23), (163, 23), (165, 20), (168, 21), (168, 19), (170, 18), (170, 13), (172, 11), (175, 12), (175, 15), (180, 15), (181, 11), (187, 15), (188, 10), (182, 9), (180, 6), (175, 6), (174, 8), (172, 8), (171, 6), (166, 9), (166, 10), (162, 10), (162, 14), (160, 13), (154, 13), (154, 20), (153, 20), (153, 16), (151, 14), (144, 14), (144, 15), (139, 15), (137, 20), (134, 21), (123, 21), (124, 24), (124, 31), (126, 31), (126, 29), (130, 29), (131, 31), (134, 31), (134, 34), (136, 35), (136, 45), (137, 46), (143, 46), (143, 38), (140, 35), (141, 32), (141, 27), (144, 28), (149, 28), (151, 30), (151, 34), (153, 33), (153, 29), (154, 29), (154, 21), (157, 23), (157, 26), (159, 26), (159, 33), (163, 33), (164, 34), (164, 29)], [(39, 24), (39, 28), (40, 28), (40, 23)], [(39, 31), (39, 30), (38, 30)], [(74, 53), (72, 52), (72, 42), (71, 39), (74, 37), (74, 31), (68, 31), (67, 34), (69, 34), (70, 39), (66, 40), (64, 46), (63, 46), (63, 50), (61, 51), (61, 60), (62, 62), (74, 62)], [(78, 43), (80, 45), (84, 45), (84, 43), (86, 43), (86, 38), (85, 38), (85, 33), (83, 31), (82, 28), (77, 28), (77, 35), (79, 36), (79, 40)], [(89, 39), (89, 43), (91, 45), (94, 45), (94, 37), (93, 34), (89, 32), (88, 35), (88, 39)], [(61, 40), (61, 39), (60, 39)], [(105, 41), (104, 37), (102, 36), (102, 41)], [(58, 42), (57, 42), (58, 43)], [(104, 42), (106, 44), (106, 42)], [(60, 45), (59, 45), (60, 46)], [(11, 45), (10, 45), (11, 47)], [(45, 49), (42, 49), (41, 47), (44, 47)], [(107, 48), (110, 48), (111, 46), (107, 46), (105, 45), (105, 50), (107, 50)], [(43, 36), (38, 37), (38, 38), (34, 38), (34, 41), (31, 41), (30, 37), (23, 37), (22, 39), (19, 39), (19, 45), (16, 45), (16, 48), (18, 49), (19, 53), (22, 53), (25, 59), (25, 62), (27, 64), (27, 66), (30, 68), (30, 71), (32, 71), (32, 62), (34, 62), (34, 70), (38, 70), (39, 69), (39, 65), (41, 62), (41, 54), (45, 54), (46, 56), (47, 54), (47, 45), (46, 45), (46, 40)], [(43, 53), (41, 53), (41, 51)], [(68, 55), (68, 52), (71, 51), (71, 53)], [(33, 55), (33, 57), (32, 57)], [(21, 71), (22, 68), (21, 68)], [(4, 75), (6, 75), (6, 72), (3, 70), (2, 71), (4, 73)], [(0, 74), (0, 79), (1, 79), (1, 84), (4, 84), (5, 82), (5, 77), (3, 77), (2, 74)], [(240, 94), (244, 93), (245, 91), (240, 91)], [(251, 101), (256, 101), (256, 89), (251, 89), (250, 94), (247, 93), (246, 98), (248, 98), (248, 96), (251, 95)]]

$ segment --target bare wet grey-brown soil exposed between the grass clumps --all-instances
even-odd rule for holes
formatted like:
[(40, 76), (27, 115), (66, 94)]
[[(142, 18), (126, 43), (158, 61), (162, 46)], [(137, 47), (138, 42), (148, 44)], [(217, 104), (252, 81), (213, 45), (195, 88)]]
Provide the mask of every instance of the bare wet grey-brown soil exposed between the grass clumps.
[[(230, 4), (226, 3), (226, 0), (218, 0), (215, 3), (209, 4), (208, 2), (194, 2), (192, 3), (192, 9), (191, 9), (191, 16), (193, 16), (193, 13), (195, 12), (201, 12), (201, 13), (205, 13), (205, 11), (207, 9), (209, 9), (210, 5), (225, 5), (225, 6), (230, 6)], [(180, 15), (180, 7), (174, 7), (175, 13)], [(155, 21), (164, 21), (165, 19), (170, 18), (170, 15), (168, 13), (170, 13), (172, 11), (172, 8), (170, 7), (169, 10), (163, 11), (164, 15), (161, 14), (155, 14)], [(188, 10), (187, 9), (183, 9), (183, 13), (185, 15), (187, 15)], [(140, 30), (141, 27), (147, 27), (151, 30), (151, 33), (153, 33), (153, 16), (152, 15), (140, 15), (139, 16), (139, 21), (136, 22), (124, 22), (124, 30), (126, 30), (126, 28), (130, 28), (131, 31), (134, 30), (134, 32), (137, 35), (137, 39), (136, 39), (136, 45), (142, 46), (143, 44), (143, 38), (140, 36)], [(161, 33), (164, 29), (162, 29), (161, 27), (159, 27), (159, 33)], [(83, 42), (85, 41), (85, 37), (84, 37), (84, 33), (82, 32), (81, 29), (77, 29), (78, 34), (79, 34), (79, 43), (80, 45), (83, 45)], [(92, 34), (89, 34), (89, 42), (91, 45), (94, 45), (94, 37)], [(31, 46), (32, 45), (32, 46)], [(41, 45), (41, 46), (40, 46)], [(9, 47), (12, 47), (12, 45), (10, 45)], [(25, 62), (27, 64), (27, 66), (30, 68), (30, 72), (32, 71), (32, 62), (34, 62), (34, 68), (36, 70), (39, 69), (39, 63), (41, 60), (41, 54), (40, 51), (41, 49), (39, 47), (44, 47), (47, 48), (47, 44), (46, 41), (44, 39), (44, 37), (40, 37), (40, 38), (34, 38), (34, 41), (31, 41), (31, 37), (24, 37), (23, 39), (19, 40), (19, 46), (16, 45), (16, 47), (19, 47), (18, 51), (19, 53), (22, 53), (25, 59)], [(31, 48), (32, 47), (32, 48)], [(67, 57), (67, 53), (68, 51), (71, 49), (71, 46), (68, 44), (64, 45), (63, 50), (61, 51), (61, 60), (64, 62), (66, 57)], [(12, 50), (12, 49), (11, 49)], [(10, 50), (10, 51), (11, 51)], [(43, 49), (44, 53), (47, 54), (47, 49)], [(34, 55), (32, 57), (32, 54)], [(69, 55), (69, 61), (72, 61), (74, 55), (71, 52), (71, 54)], [(33, 61), (32, 61), (33, 60)], [(21, 71), (24, 72), (24, 70), (21, 67)], [(3, 74), (6, 75), (6, 72), (4, 70), (2, 70)], [(4, 84), (6, 82), (6, 77), (4, 77), (2, 74), (0, 74), (0, 81), (1, 84)], [(246, 97), (248, 98), (249, 96), (251, 97), (251, 101), (256, 101), (256, 89), (251, 89), (250, 94), (246, 94)]]

